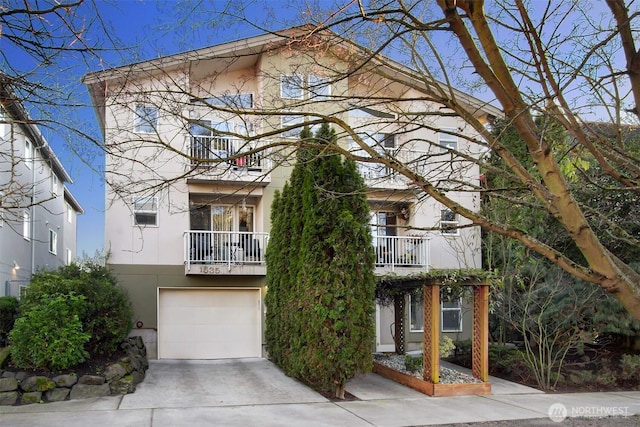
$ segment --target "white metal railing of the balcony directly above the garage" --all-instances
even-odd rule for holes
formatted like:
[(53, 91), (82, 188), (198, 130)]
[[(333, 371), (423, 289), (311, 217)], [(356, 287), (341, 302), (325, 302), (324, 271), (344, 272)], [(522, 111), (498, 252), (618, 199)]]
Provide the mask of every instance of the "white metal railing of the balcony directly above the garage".
[(192, 264), (264, 264), (269, 233), (185, 231), (184, 259)]

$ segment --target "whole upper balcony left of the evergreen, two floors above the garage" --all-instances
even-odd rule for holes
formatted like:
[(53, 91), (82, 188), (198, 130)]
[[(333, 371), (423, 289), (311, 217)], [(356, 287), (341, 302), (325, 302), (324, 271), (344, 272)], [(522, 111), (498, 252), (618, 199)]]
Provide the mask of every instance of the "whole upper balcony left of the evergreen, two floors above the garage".
[(202, 178), (270, 182), (271, 161), (265, 152), (250, 153), (252, 146), (224, 135), (189, 137), (191, 167), (202, 169)]

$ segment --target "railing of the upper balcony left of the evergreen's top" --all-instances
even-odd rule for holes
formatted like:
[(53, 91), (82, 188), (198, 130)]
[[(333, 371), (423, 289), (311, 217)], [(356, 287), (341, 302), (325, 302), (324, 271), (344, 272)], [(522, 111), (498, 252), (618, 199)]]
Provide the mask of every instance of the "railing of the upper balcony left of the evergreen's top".
[(190, 136), (189, 155), (192, 165), (231, 168), (250, 172), (267, 172), (271, 162), (264, 152), (240, 155), (250, 146), (240, 138), (224, 135)]

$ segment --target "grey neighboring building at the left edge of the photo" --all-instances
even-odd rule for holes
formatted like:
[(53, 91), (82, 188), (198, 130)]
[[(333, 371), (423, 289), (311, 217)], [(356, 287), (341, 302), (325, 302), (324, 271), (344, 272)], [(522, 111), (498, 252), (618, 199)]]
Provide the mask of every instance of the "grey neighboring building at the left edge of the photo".
[(55, 153), (13, 91), (0, 87), (0, 296), (19, 296), (31, 275), (76, 256), (82, 208)]

